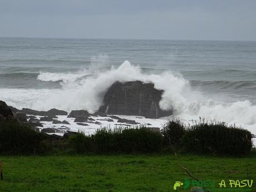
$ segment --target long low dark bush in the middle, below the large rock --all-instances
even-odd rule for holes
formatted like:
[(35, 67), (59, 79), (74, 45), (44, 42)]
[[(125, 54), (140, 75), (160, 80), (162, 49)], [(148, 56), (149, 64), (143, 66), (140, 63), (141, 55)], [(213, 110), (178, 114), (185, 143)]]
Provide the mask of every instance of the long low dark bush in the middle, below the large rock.
[(69, 142), (73, 149), (83, 153), (106, 152), (155, 152), (161, 150), (163, 137), (159, 132), (146, 128), (101, 129), (94, 135), (72, 135)]

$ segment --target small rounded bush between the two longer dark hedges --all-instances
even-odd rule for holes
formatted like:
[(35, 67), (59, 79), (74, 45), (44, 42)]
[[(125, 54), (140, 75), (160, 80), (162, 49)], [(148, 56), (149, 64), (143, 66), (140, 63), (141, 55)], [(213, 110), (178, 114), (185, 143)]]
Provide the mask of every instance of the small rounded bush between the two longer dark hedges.
[(164, 145), (180, 145), (180, 142), (185, 134), (185, 125), (179, 119), (172, 119), (161, 130), (164, 136)]

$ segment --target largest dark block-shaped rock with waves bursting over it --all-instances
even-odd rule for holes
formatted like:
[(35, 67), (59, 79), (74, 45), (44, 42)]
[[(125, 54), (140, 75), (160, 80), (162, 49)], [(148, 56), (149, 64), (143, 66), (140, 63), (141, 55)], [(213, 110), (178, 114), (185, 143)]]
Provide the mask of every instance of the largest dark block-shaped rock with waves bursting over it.
[(106, 92), (99, 112), (116, 115), (138, 115), (148, 118), (170, 116), (173, 111), (159, 107), (163, 90), (141, 81), (115, 82)]

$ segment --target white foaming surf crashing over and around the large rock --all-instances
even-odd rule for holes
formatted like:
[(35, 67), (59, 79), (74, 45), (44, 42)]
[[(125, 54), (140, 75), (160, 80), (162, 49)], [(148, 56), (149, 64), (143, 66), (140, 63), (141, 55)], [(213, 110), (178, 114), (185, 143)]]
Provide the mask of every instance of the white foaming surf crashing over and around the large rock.
[(139, 66), (131, 65), (129, 61), (105, 72), (98, 72), (95, 68), (83, 69), (77, 73), (41, 72), (37, 79), (61, 81), (62, 89), (1, 89), (1, 99), (8, 105), (18, 108), (49, 110), (55, 107), (66, 111), (85, 109), (95, 112), (112, 83), (140, 80), (152, 82), (155, 88), (164, 90), (160, 107), (163, 110), (173, 109), (175, 116), (185, 120), (198, 119), (200, 116), (206, 120), (225, 121), (249, 126), (250, 130), (256, 129), (253, 128), (256, 124), (256, 106), (250, 101), (218, 102), (214, 98), (206, 98), (199, 91), (192, 90), (189, 81), (181, 75), (174, 75), (172, 72), (160, 75), (145, 74)]

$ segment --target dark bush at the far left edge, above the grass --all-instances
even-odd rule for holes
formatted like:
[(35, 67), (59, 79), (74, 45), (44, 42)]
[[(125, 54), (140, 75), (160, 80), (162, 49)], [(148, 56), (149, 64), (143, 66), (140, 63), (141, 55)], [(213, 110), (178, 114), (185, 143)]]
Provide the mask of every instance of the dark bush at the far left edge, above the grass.
[(32, 154), (45, 151), (42, 141), (45, 134), (32, 130), (29, 126), (17, 121), (0, 122), (1, 154)]

